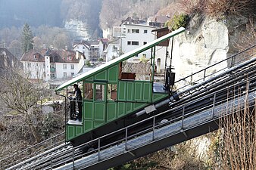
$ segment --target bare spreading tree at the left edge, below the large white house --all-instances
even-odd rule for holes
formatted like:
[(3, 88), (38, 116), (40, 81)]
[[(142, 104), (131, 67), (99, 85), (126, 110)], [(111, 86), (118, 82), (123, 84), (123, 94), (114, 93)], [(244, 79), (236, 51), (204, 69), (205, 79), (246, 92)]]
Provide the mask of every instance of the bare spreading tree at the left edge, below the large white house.
[(39, 113), (37, 101), (40, 100), (39, 89), (30, 83), (28, 79), (21, 77), (17, 71), (5, 70), (1, 74), (1, 96), (3, 107), (14, 110), (10, 114), (20, 116), (30, 127), (36, 142), (40, 141), (36, 130), (36, 115)]

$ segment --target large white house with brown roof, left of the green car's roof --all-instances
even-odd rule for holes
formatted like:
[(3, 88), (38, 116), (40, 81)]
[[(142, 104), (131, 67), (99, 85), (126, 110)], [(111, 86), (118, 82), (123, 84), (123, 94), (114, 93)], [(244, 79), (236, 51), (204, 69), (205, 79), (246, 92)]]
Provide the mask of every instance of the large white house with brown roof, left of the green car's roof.
[(42, 50), (29, 51), (21, 58), (23, 70), (29, 79), (64, 79), (82, 70), (85, 59), (78, 51)]

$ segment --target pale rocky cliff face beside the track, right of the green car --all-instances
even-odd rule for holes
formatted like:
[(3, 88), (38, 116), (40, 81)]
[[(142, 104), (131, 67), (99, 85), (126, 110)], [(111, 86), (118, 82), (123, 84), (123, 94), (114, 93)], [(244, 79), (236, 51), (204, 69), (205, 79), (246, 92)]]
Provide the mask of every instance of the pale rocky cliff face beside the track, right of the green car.
[[(236, 28), (242, 25), (245, 27), (247, 21), (241, 17), (233, 20), (198, 15), (192, 17), (186, 32), (174, 39), (173, 66), (176, 80), (235, 54), (237, 51), (233, 48), (233, 42), (238, 41), (241, 32), (241, 29)], [(223, 63), (221, 67), (226, 67), (227, 64)], [(214, 73), (216, 70), (217, 68), (213, 68), (208, 70), (208, 73)]]

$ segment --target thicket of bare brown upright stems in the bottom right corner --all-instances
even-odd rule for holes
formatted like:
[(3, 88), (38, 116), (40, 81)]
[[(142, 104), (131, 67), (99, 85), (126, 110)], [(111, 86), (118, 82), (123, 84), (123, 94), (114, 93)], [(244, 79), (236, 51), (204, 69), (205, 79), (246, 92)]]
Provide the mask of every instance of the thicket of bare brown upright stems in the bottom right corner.
[(255, 107), (233, 106), (232, 114), (220, 121), (223, 127), (211, 146), (211, 167), (214, 169), (256, 169)]

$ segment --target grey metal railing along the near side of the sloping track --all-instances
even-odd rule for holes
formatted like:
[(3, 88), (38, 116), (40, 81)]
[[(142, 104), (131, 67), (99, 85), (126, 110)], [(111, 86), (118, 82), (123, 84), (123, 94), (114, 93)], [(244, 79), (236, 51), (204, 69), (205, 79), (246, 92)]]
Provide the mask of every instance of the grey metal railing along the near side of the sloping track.
[[(256, 78), (251, 78), (250, 80), (252, 81), (252, 80), (255, 80), (255, 79)], [(236, 85), (239, 85), (239, 83), (237, 83)], [(255, 85), (253, 86), (253, 88), (255, 88)], [(248, 91), (248, 93), (251, 94), (251, 98), (253, 98), (253, 100), (250, 100), (250, 101), (252, 101), (250, 104), (254, 104), (254, 100), (255, 100), (255, 97), (256, 97), (256, 94), (255, 94), (254, 91), (255, 91), (254, 89)], [(211, 112), (210, 118), (206, 122), (199, 122), (198, 125), (200, 125), (201, 123), (207, 123), (208, 121), (211, 121), (211, 120), (214, 120), (214, 119), (220, 119), (220, 117), (223, 117), (223, 116), (226, 116), (226, 115), (230, 114), (229, 112), (222, 112), (223, 110), (221, 111), (220, 108), (224, 108), (224, 109), (228, 110), (229, 107), (236, 106), (236, 103), (241, 103), (242, 102), (244, 104), (245, 100), (247, 100), (245, 98), (246, 94), (239, 93), (239, 94), (236, 94), (235, 96), (232, 96), (232, 97), (226, 98), (225, 100), (220, 100), (220, 101), (217, 102), (216, 101), (216, 94), (217, 94), (217, 92), (218, 91), (215, 91), (214, 94), (208, 94), (207, 96), (205, 96), (205, 97), (211, 97), (213, 99), (210, 108), (209, 108), (209, 106), (206, 106), (206, 107), (202, 107), (200, 110), (195, 110), (195, 111), (192, 111), (190, 113), (186, 113), (186, 106), (189, 106), (190, 104), (194, 103), (194, 102), (190, 102), (188, 104), (184, 104), (184, 105), (180, 106), (180, 107), (183, 108), (183, 114), (181, 116), (179, 116), (179, 117), (176, 117), (175, 119), (170, 119), (167, 122), (163, 122), (163, 123), (160, 123), (160, 122), (157, 121), (158, 117), (160, 117), (160, 116), (162, 116), (164, 114), (171, 113), (172, 109), (170, 109), (170, 110), (164, 111), (163, 113), (160, 113), (158, 115), (152, 116), (152, 117), (150, 117), (148, 119), (144, 119), (144, 120), (142, 120), (140, 122), (136, 122), (133, 125), (129, 125), (129, 126), (125, 127), (125, 128), (121, 128), (121, 129), (119, 129), (117, 131), (114, 131), (114, 132), (112, 132), (110, 134), (106, 134), (104, 136), (101, 136), (100, 138), (96, 138), (95, 140), (89, 141), (86, 144), (83, 144), (83, 145), (81, 145), (79, 147), (73, 147), (71, 150), (68, 150), (67, 153), (65, 153), (65, 154), (68, 154), (68, 153), (72, 154), (73, 159), (71, 161), (72, 162), (71, 164), (72, 164), (73, 169), (76, 168), (76, 166), (75, 166), (75, 160), (76, 160), (75, 158), (77, 156), (76, 155), (76, 150), (78, 148), (84, 147), (84, 146), (86, 146), (88, 144), (97, 143), (98, 147), (95, 148), (95, 150), (92, 150), (92, 151), (90, 151), (88, 153), (85, 153), (83, 155), (83, 157), (92, 155), (94, 153), (98, 157), (97, 158), (97, 162), (101, 162), (104, 159), (109, 159), (110, 157), (108, 157), (108, 158), (103, 158), (102, 157), (103, 156), (102, 155), (103, 151), (105, 149), (108, 149), (108, 148), (113, 147), (113, 146), (117, 146), (119, 144), (123, 144), (123, 146), (124, 146), (123, 152), (130, 152), (130, 154), (133, 154), (132, 150), (135, 147), (128, 147), (128, 145), (129, 145), (128, 143), (129, 143), (130, 140), (133, 140), (134, 138), (138, 138), (139, 136), (142, 136), (143, 134), (150, 133), (150, 135), (151, 135), (150, 142), (155, 141), (156, 139), (158, 139), (158, 136), (155, 135), (156, 132), (158, 131), (158, 129), (160, 129), (161, 127), (164, 127), (165, 125), (171, 125), (171, 124), (174, 124), (176, 122), (181, 122), (181, 123), (180, 123), (180, 126), (179, 126), (180, 128), (177, 128), (178, 131), (175, 131), (175, 133), (176, 132), (181, 132), (181, 131), (186, 131), (186, 128), (188, 128), (187, 126), (185, 126), (186, 125), (185, 124), (186, 119), (188, 119), (188, 118), (190, 118), (192, 116), (195, 116), (198, 112), (200, 112), (200, 111), (203, 112), (204, 110), (210, 110), (209, 112)], [(218, 107), (218, 106), (221, 106), (221, 107)], [(241, 106), (242, 106), (242, 104), (241, 104)], [(242, 107), (241, 107), (241, 109), (242, 109)], [(220, 113), (220, 111), (221, 111), (221, 113)], [(130, 129), (134, 129), (134, 127), (136, 127), (137, 125), (144, 124), (145, 122), (148, 122), (148, 121), (151, 122), (151, 127), (147, 128), (147, 129), (145, 129), (143, 131), (139, 131), (136, 134), (129, 135)], [(112, 134), (119, 134), (120, 132), (123, 132), (123, 134), (125, 134), (123, 138), (121, 138), (120, 140), (115, 141), (114, 143), (101, 146), (101, 142), (104, 141), (105, 138), (108, 138)], [(148, 143), (145, 143), (145, 144), (148, 144)], [(137, 145), (136, 147), (142, 147), (142, 145), (145, 145), (145, 144), (140, 144), (140, 145)], [(123, 154), (123, 152), (120, 153), (120, 154)], [(117, 153), (117, 155), (118, 155), (118, 153)], [(111, 156), (117, 156), (117, 155), (111, 155)], [(51, 162), (53, 163), (52, 167), (56, 166), (56, 165), (58, 166), (58, 164), (54, 164), (56, 158), (58, 158), (57, 155), (52, 156), (50, 158)], [(95, 162), (91, 162), (91, 163), (93, 164)]]

